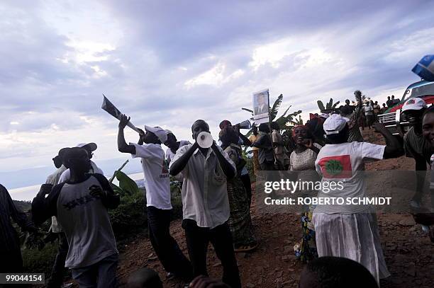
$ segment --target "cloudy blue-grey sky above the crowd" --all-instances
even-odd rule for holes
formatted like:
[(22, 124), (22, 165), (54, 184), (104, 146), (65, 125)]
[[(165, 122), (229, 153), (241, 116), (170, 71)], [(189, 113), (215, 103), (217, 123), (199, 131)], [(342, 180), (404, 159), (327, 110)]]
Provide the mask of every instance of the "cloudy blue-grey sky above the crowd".
[(350, 2), (1, 1), (1, 183), (43, 182), (23, 169), (51, 169), (79, 142), (99, 145), (96, 162), (126, 159), (102, 93), (135, 125), (179, 139), (199, 118), (214, 135), (247, 119), (240, 108), (263, 88), (304, 115), (355, 89), (402, 96), (433, 53), (434, 1)]

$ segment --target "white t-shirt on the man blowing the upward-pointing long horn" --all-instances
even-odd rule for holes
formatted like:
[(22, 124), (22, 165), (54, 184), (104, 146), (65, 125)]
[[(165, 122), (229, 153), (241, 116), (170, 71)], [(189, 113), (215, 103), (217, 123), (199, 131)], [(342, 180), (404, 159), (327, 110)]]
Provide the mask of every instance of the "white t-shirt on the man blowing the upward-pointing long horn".
[(143, 174), (145, 174), (146, 206), (158, 209), (172, 209), (170, 204), (169, 168), (165, 159), (165, 151), (161, 144), (135, 144), (133, 158), (142, 159)]

